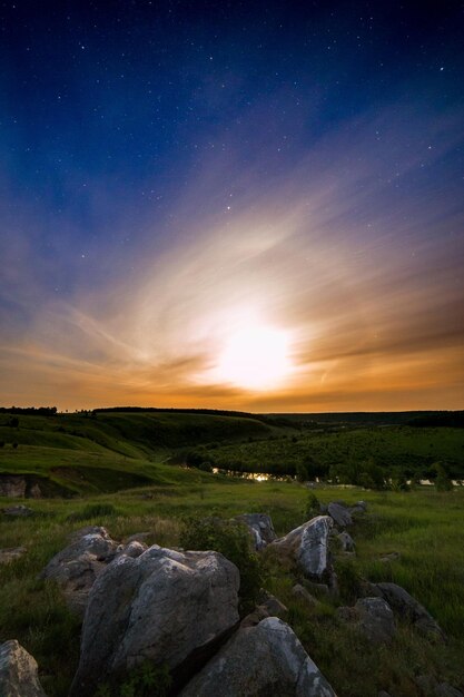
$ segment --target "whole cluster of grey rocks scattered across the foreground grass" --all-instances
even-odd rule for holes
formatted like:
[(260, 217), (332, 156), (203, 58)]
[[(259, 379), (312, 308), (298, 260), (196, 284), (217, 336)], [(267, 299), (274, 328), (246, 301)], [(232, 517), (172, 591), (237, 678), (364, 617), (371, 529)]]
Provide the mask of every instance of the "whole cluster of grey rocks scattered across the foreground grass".
[[(314, 606), (318, 601), (306, 586), (336, 592), (332, 541), (337, 539), (342, 553), (354, 552), (345, 528), (366, 507), (359, 502), (354, 509), (330, 503), (324, 514), (280, 539), (268, 516), (238, 520), (248, 527), (257, 550), (272, 549), (293, 560), (305, 579), (293, 593)], [(147, 548), (140, 536), (119, 543), (105, 528), (91, 527), (75, 533), (42, 578), (58, 582), (69, 606), (83, 618), (70, 697), (91, 697), (102, 680), (120, 681), (146, 660), (169, 668), (172, 694), (180, 697), (335, 697), (284, 621), (287, 610), (277, 598), (265, 595), (240, 621), (239, 572), (218, 552)], [(366, 597), (354, 607), (338, 608), (337, 617), (369, 641), (392, 639), (395, 615), (443, 638), (425, 608), (404, 589), (367, 582), (365, 589)], [(0, 647), (0, 694), (45, 697), (34, 660), (16, 641)]]

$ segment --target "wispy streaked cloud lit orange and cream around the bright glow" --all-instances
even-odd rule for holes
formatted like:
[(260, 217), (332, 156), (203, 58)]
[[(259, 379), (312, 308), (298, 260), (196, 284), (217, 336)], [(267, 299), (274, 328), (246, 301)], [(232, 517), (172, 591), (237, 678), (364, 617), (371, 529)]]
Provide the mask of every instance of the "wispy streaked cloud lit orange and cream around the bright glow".
[[(4, 403), (460, 406), (460, 218), (432, 175), (457, 122), (431, 115), (412, 128), (414, 116), (366, 114), (284, 164), (263, 138), (245, 161), (241, 150), (229, 157), (229, 135), (226, 155), (179, 184), (162, 219), (135, 235), (126, 215), (112, 239), (136, 237), (131, 251), (107, 242), (90, 275), (69, 266), (65, 296), (43, 282), (53, 267), (24, 214), (3, 247)], [(290, 336), (294, 371), (278, 391), (211, 377), (250, 317)]]

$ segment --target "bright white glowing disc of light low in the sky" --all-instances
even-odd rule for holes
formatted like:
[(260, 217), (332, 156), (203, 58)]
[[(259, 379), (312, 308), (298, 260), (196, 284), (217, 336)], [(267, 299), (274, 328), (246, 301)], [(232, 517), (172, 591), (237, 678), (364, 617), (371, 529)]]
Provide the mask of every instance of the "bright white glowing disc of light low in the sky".
[(289, 371), (287, 334), (256, 326), (230, 336), (219, 357), (217, 376), (245, 390), (267, 390), (282, 383)]

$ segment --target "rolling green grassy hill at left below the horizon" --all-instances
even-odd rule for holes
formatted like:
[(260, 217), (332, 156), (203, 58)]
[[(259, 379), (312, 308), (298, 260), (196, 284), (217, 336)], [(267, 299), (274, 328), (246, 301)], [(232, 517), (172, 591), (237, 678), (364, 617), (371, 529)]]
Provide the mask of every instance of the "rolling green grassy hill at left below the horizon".
[[(172, 412), (0, 414), (0, 474), (23, 474), (45, 495), (116, 491), (198, 479), (166, 464), (186, 446), (273, 435), (244, 416)], [(17, 448), (13, 446), (17, 444)]]

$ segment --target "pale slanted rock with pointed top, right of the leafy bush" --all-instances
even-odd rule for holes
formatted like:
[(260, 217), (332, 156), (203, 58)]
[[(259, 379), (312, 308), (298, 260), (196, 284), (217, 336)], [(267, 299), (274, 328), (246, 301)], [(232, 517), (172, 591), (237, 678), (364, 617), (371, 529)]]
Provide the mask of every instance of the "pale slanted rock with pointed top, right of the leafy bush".
[(327, 546), (332, 526), (332, 518), (317, 516), (272, 542), (272, 547), (292, 554), (306, 576), (322, 579), (332, 570)]

